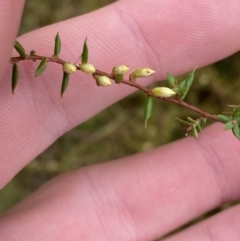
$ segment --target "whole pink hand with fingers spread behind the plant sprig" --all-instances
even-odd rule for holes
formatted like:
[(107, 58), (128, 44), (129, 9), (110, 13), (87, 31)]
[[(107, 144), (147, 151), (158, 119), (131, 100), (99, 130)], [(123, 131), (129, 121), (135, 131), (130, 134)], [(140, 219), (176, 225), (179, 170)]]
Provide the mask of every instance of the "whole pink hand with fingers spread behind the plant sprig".
[[(64, 132), (133, 91), (96, 88), (90, 77), (82, 82), (77, 74), (61, 102), (59, 66), (52, 64), (41, 81), (32, 83), (34, 63), (25, 62), (13, 98), (9, 57), (24, 1), (11, 3), (2, 3), (0, 15), (1, 187)], [(238, 0), (119, 1), (19, 41), (29, 51), (49, 55), (60, 31), (61, 56), (72, 60), (88, 36), (91, 62), (99, 69), (111, 69), (118, 56), (117, 62), (130, 63), (131, 69), (157, 70), (144, 80), (150, 84), (167, 71), (185, 73), (238, 51), (239, 12)], [(0, 217), (1, 240), (153, 240), (238, 199), (240, 144), (222, 129), (213, 125), (197, 140), (183, 139), (51, 180)], [(239, 216), (235, 206), (168, 240), (238, 240)]]

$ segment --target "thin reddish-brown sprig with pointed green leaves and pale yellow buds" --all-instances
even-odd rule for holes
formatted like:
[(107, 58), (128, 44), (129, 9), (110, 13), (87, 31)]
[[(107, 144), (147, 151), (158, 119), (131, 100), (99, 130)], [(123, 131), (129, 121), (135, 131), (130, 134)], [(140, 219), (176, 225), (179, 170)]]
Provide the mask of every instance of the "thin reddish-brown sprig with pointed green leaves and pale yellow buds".
[(92, 75), (96, 84), (101, 87), (109, 87), (113, 82), (115, 84), (125, 84), (131, 87), (135, 87), (140, 91), (144, 92), (147, 96), (145, 111), (144, 111), (144, 121), (145, 128), (147, 127), (148, 119), (152, 114), (153, 99), (159, 99), (172, 104), (176, 104), (182, 107), (185, 107), (191, 111), (199, 114), (197, 119), (192, 119), (191, 117), (186, 117), (186, 120), (176, 118), (185, 126), (186, 136), (198, 137), (198, 134), (201, 132), (202, 128), (205, 126), (207, 120), (213, 120), (216, 122), (221, 122), (225, 124), (224, 130), (232, 130), (234, 136), (240, 140), (240, 104), (238, 105), (228, 105), (232, 110), (229, 113), (222, 113), (218, 115), (213, 115), (208, 112), (205, 112), (191, 104), (188, 104), (184, 101), (192, 83), (194, 80), (195, 69), (189, 73), (187, 78), (181, 82), (170, 73), (167, 73), (167, 83), (169, 87), (155, 87), (153, 89), (148, 89), (145, 86), (137, 83), (138, 78), (147, 78), (155, 73), (151, 68), (143, 67), (134, 70), (129, 74), (128, 79), (124, 76), (129, 71), (129, 67), (122, 64), (113, 67), (111, 73), (105, 73), (104, 71), (98, 70), (95, 66), (88, 62), (89, 49), (87, 45), (87, 39), (85, 39), (81, 54), (81, 63), (76, 65), (69, 61), (64, 61), (59, 58), (61, 51), (61, 39), (59, 33), (55, 37), (54, 45), (54, 54), (52, 57), (39, 56), (35, 51), (30, 51), (29, 54), (25, 52), (23, 46), (16, 41), (14, 48), (18, 52), (19, 56), (12, 57), (10, 62), (12, 63), (12, 93), (17, 87), (18, 83), (18, 62), (25, 60), (40, 61), (36, 71), (35, 77), (43, 74), (46, 69), (48, 62), (54, 62), (62, 65), (63, 78), (61, 85), (61, 97), (67, 90), (69, 84), (70, 75), (76, 73), (78, 70), (86, 74)]

